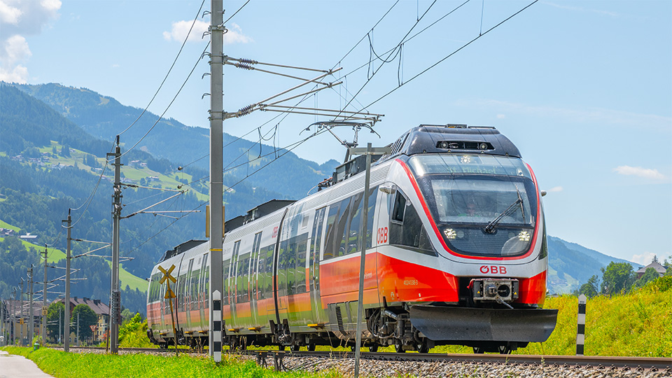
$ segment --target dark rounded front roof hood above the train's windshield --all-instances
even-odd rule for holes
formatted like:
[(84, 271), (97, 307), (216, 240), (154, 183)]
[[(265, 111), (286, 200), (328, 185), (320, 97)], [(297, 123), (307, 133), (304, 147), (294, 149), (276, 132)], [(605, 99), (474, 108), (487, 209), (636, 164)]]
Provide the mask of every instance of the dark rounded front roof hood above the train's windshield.
[(391, 154), (382, 158), (381, 162), (397, 155), (419, 153), (483, 153), (521, 157), (512, 141), (491, 126), (419, 125), (405, 132), (391, 149)]

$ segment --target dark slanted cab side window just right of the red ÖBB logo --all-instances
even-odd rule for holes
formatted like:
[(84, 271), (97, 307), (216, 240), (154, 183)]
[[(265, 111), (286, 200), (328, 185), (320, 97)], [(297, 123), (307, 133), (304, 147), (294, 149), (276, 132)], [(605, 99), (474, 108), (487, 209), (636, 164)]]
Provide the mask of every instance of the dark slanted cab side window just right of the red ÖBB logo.
[(390, 244), (407, 246), (419, 253), (437, 255), (415, 207), (399, 188), (396, 192), (390, 216)]

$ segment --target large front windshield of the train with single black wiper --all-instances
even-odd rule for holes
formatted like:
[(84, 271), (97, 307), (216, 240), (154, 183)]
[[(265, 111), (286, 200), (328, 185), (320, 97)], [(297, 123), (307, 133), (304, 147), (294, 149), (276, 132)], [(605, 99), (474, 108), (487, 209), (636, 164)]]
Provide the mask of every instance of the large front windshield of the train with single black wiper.
[(519, 158), (415, 155), (409, 166), (451, 250), (491, 257), (528, 251), (537, 191)]

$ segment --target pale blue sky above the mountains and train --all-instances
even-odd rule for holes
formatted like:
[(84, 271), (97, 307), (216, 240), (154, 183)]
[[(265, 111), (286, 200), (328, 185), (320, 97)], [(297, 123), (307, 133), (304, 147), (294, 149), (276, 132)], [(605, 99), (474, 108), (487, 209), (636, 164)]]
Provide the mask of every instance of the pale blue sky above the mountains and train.
[[(225, 55), (314, 69), (342, 66), (343, 74), (364, 66), (344, 79), (338, 73), (328, 78), (344, 83), (309, 97), (307, 107), (341, 109), (359, 92), (349, 109), (360, 110), (404, 83), (367, 108), (385, 115), (375, 127), (381, 138), (363, 132), (360, 144), (391, 143), (421, 123), (495, 126), (517, 144), (549, 192), (549, 235), (640, 263), (672, 255), (672, 2), (538, 1), (409, 81), (530, 3), (472, 0), (406, 41), (401, 57), (367, 64), (372, 50), (383, 56), (410, 29), (412, 36), (461, 3), (251, 0), (226, 25)], [(243, 4), (225, 1), (225, 19)], [(144, 108), (200, 5), (0, 0), (0, 79), (87, 87)], [(150, 106), (153, 113), (167, 109), (197, 64), (166, 114), (208, 127), (209, 98), (201, 97), (209, 79), (201, 77), (209, 66), (207, 58), (198, 60), (208, 23), (209, 16), (198, 18)], [(225, 110), (296, 84), (226, 66)], [(226, 121), (224, 130), (241, 135), (269, 122), (262, 132), (279, 125), (279, 143), (286, 146), (325, 119), (292, 115), (280, 122), (274, 116), (255, 112)], [(337, 133), (353, 137), (348, 129)], [(328, 134), (294, 151), (316, 162), (344, 155)]]

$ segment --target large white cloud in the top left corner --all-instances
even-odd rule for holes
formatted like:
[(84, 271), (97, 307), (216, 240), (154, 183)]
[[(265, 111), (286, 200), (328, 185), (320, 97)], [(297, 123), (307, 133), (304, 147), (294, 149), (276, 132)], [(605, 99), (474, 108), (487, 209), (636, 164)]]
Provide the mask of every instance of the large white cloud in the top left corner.
[(26, 83), (25, 62), (32, 53), (25, 36), (40, 34), (50, 20), (59, 17), (59, 0), (0, 0), (0, 80)]

